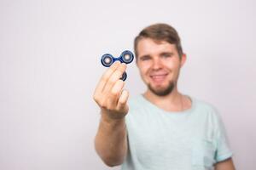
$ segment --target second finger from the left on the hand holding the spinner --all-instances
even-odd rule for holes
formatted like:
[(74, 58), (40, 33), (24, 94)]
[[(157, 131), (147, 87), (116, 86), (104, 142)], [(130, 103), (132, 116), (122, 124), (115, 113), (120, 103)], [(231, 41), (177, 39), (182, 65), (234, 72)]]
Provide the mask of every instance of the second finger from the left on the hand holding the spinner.
[(122, 74), (125, 72), (126, 65), (125, 63), (122, 63), (119, 65), (119, 67), (113, 72), (111, 77), (109, 77), (108, 82), (105, 84), (105, 87), (103, 88), (103, 94), (108, 94), (109, 91), (113, 88), (113, 85), (115, 82), (117, 82)]

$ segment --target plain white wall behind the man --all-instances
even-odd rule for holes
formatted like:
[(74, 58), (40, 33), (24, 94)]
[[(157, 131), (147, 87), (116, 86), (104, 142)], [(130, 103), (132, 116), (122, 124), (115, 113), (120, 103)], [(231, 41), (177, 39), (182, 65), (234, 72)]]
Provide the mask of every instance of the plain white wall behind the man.
[[(179, 89), (215, 105), (238, 170), (254, 170), (256, 3), (0, 1), (0, 169), (108, 169), (93, 140), (102, 54), (132, 50), (143, 27), (174, 26), (188, 56)], [(135, 62), (125, 85), (145, 89)], [(114, 167), (113, 169), (119, 169)]]

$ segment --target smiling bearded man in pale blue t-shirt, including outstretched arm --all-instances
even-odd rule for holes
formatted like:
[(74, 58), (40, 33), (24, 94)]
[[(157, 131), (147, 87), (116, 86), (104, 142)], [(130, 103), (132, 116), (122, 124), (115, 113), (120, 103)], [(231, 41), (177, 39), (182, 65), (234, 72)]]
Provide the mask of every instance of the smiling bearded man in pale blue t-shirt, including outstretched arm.
[(147, 91), (129, 100), (115, 62), (98, 83), (101, 108), (96, 152), (108, 166), (139, 170), (234, 170), (232, 153), (217, 111), (177, 90), (186, 61), (177, 31), (148, 26), (134, 42), (137, 67)]

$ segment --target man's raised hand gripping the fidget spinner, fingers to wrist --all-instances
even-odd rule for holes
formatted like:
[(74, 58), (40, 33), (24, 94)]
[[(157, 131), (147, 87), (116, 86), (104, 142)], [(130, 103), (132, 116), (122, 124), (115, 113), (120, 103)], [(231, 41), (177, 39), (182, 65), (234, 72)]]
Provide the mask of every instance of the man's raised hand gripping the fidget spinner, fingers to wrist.
[(125, 82), (119, 78), (125, 72), (126, 65), (116, 61), (103, 74), (96, 86), (93, 99), (100, 106), (102, 117), (109, 120), (120, 120), (128, 113), (127, 100), (129, 93), (123, 90)]

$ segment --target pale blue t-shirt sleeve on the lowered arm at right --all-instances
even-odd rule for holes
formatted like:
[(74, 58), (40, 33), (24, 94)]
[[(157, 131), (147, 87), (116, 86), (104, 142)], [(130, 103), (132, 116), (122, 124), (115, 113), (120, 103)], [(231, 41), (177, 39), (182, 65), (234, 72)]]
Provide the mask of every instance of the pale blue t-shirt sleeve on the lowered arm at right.
[(215, 161), (224, 161), (228, 158), (230, 158), (233, 153), (230, 150), (230, 144), (228, 141), (228, 137), (224, 128), (224, 123), (221, 120), (221, 117), (217, 116), (217, 121), (216, 121), (216, 152), (215, 152)]

